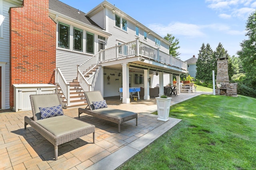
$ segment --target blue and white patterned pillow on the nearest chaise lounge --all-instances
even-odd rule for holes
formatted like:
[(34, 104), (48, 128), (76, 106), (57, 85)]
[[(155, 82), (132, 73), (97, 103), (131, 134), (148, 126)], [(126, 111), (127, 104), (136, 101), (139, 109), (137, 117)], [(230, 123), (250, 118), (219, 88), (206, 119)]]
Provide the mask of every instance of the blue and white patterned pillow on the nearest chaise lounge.
[(63, 115), (61, 104), (52, 107), (39, 107), (41, 119)]

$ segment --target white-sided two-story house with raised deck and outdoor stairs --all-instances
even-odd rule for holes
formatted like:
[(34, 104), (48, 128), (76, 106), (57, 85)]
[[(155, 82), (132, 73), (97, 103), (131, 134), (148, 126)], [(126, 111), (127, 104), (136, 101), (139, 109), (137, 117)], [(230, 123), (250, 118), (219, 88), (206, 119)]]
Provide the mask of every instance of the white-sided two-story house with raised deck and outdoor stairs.
[[(7, 3), (0, 0), (0, 4), (3, 2)], [(4, 17), (8, 18), (8, 7), (4, 8)], [(2, 11), (0, 6), (0, 16)], [(84, 13), (58, 0), (49, 0), (49, 16), (56, 22), (56, 69), (52, 84), (56, 90), (52, 92), (61, 94), (66, 108), (87, 105), (83, 91), (100, 90), (104, 97), (120, 96), (121, 87), (123, 103), (130, 102), (130, 87), (142, 87), (142, 98), (148, 100), (150, 88), (159, 86), (161, 96), (173, 75), (179, 80), (179, 75), (187, 72), (185, 62), (169, 55), (170, 42), (107, 1)], [(0, 25), (0, 38), (3, 28), (4, 34), (8, 34), (8, 23), (4, 24)], [(3, 41), (0, 43), (1, 109), (6, 109), (10, 108), (8, 41), (3, 57)], [(26, 86), (36, 88), (32, 84)], [(23, 100), (29, 101), (27, 96)], [(14, 98), (18, 105), (18, 97)], [(22, 111), (30, 109), (19, 107), (24, 107), (20, 108)], [(18, 106), (14, 108), (18, 111)]]

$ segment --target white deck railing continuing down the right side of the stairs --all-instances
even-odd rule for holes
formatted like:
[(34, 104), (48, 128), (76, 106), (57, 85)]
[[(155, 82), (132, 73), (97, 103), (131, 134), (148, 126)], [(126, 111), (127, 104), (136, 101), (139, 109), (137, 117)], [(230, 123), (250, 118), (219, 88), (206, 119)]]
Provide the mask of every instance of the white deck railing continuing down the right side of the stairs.
[[(104, 49), (92, 56), (88, 61), (77, 67), (78, 81), (84, 91), (90, 90), (91, 84), (85, 79), (84, 75), (88, 74), (99, 63), (126, 59), (130, 57), (141, 56), (154, 61), (175, 66), (182, 70), (187, 69), (187, 64), (180, 59), (170, 56), (136, 39), (128, 43), (116, 45), (114, 47)], [(84, 80), (84, 81), (83, 81)], [(82, 82), (83, 81), (83, 82)]]

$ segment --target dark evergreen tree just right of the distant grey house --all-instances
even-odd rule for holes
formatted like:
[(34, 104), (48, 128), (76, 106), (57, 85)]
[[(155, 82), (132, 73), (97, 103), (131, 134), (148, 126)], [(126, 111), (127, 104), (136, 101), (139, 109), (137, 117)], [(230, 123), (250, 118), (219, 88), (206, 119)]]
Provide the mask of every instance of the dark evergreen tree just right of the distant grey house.
[(213, 53), (209, 43), (206, 46), (202, 44), (196, 62), (196, 79), (204, 80), (206, 83), (212, 81)]

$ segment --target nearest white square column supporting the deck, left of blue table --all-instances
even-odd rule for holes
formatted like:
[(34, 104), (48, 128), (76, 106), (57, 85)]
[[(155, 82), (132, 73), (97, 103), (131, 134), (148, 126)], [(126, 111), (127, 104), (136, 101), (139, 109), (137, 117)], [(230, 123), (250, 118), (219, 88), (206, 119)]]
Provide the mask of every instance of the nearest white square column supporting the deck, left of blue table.
[(130, 93), (129, 93), (129, 65), (127, 63), (122, 64), (122, 88), (123, 88), (123, 100), (122, 103), (130, 103)]

